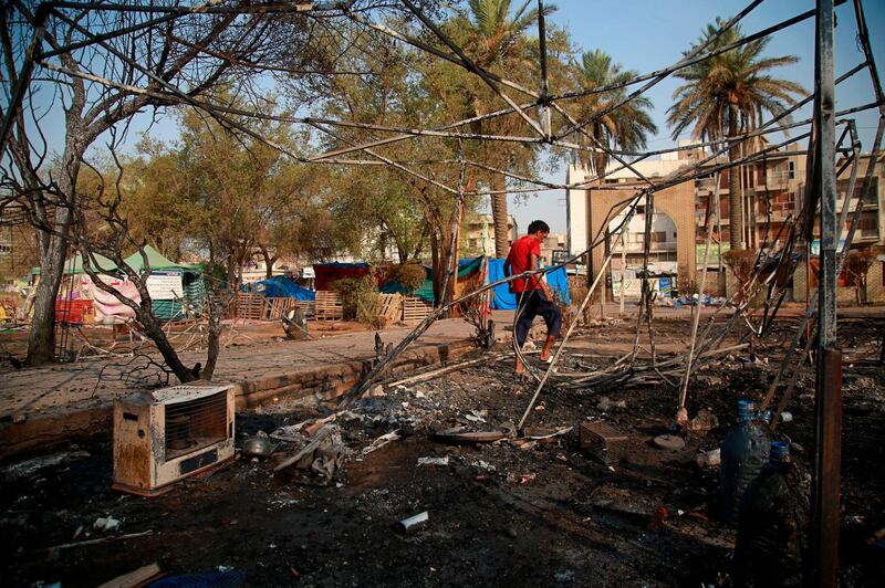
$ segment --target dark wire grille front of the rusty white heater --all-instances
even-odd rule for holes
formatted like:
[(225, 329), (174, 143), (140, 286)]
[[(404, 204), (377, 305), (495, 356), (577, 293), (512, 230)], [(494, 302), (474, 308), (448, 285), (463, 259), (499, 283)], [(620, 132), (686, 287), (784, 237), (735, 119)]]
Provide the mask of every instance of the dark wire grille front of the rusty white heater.
[(166, 461), (227, 437), (227, 393), (166, 405)]

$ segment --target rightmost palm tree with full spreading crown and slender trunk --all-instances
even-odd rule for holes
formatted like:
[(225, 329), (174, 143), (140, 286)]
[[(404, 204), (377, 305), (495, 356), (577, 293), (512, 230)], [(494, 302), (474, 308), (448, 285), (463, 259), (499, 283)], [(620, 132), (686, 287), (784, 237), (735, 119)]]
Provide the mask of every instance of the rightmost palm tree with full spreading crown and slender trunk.
[[(708, 24), (698, 44), (712, 39), (723, 21)], [(735, 25), (715, 39), (709, 50), (716, 50), (743, 39), (740, 27)], [(670, 106), (667, 124), (673, 127), (673, 138), (694, 125), (691, 137), (702, 140), (725, 140), (757, 128), (762, 114), (774, 116), (795, 104), (793, 94), (805, 90), (794, 83), (772, 77), (766, 72), (772, 67), (795, 63), (799, 57), (761, 57), (769, 38), (746, 43), (731, 51), (680, 70), (676, 75), (686, 83), (673, 93), (676, 103)], [(697, 44), (695, 45), (697, 46)], [(781, 119), (789, 123), (789, 117)], [(740, 158), (741, 143), (736, 141), (728, 151), (730, 162)], [(742, 249), (743, 222), (741, 214), (740, 176), (732, 167), (728, 175), (728, 219), (731, 250)]]

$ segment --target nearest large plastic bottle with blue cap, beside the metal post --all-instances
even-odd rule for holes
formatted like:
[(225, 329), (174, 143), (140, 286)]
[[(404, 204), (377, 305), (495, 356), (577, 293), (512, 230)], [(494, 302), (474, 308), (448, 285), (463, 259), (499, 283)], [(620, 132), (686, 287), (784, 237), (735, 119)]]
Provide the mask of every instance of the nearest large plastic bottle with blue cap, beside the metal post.
[(808, 497), (787, 443), (771, 443), (771, 459), (740, 502), (735, 586), (800, 587), (806, 546)]

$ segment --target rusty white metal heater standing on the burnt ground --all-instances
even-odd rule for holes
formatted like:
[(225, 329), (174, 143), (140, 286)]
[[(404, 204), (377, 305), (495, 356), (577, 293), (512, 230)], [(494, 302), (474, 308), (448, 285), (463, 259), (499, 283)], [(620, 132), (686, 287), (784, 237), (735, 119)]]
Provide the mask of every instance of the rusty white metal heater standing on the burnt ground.
[(114, 402), (113, 489), (156, 496), (233, 456), (233, 386), (186, 385)]

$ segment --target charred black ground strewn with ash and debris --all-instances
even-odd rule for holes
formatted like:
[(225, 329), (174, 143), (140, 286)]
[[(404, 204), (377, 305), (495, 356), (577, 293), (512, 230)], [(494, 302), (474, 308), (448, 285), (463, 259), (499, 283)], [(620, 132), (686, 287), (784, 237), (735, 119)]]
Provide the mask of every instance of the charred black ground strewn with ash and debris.
[[(685, 340), (688, 322), (657, 328), (666, 353), (668, 342)], [(840, 328), (848, 351), (842, 585), (874, 586), (885, 574), (883, 548), (871, 540), (885, 527), (885, 370), (874, 360), (882, 325), (845, 321)], [(632, 344), (632, 330), (625, 324), (592, 328), (575, 339), (560, 369), (607, 365)], [(702, 368), (689, 390), (689, 411), (707, 408), (719, 426), (702, 437), (683, 434), (686, 447), (677, 451), (652, 443), (677, 433), (677, 392), (665, 384), (545, 388), (527, 427), (573, 428), (552, 442), (433, 441), (435, 431), (457, 424), (519, 421), (534, 386), (511, 372), (512, 358), (355, 402), (335, 421), (346, 449), (331, 481), (295, 469), (274, 474), (277, 456), (238, 459), (142, 498), (110, 489), (111, 440), (96, 439), (55, 454), (54, 464), (3, 469), (0, 534), (9, 547), (0, 555), (0, 582), (95, 586), (156, 561), (173, 575), (240, 570), (249, 586), (729, 586), (735, 532), (715, 516), (717, 470), (699, 468), (695, 455), (719, 445), (739, 398), (761, 398), (782, 348), (736, 353)], [(798, 392), (788, 408), (793, 420), (777, 438), (792, 443), (808, 472), (812, 371), (800, 378)], [(240, 413), (238, 444), (259, 430), (329, 413), (308, 400)], [(581, 451), (577, 427), (591, 420), (629, 437), (623, 461), (610, 466)], [(394, 430), (400, 440), (363, 455)], [(287, 444), (277, 451), (291, 452)], [(427, 456), (448, 456), (448, 465), (418, 465)], [(397, 529), (398, 521), (425, 511), (426, 526)], [(119, 529), (93, 531), (107, 515), (121, 521)], [(106, 540), (81, 544), (96, 538)]]

